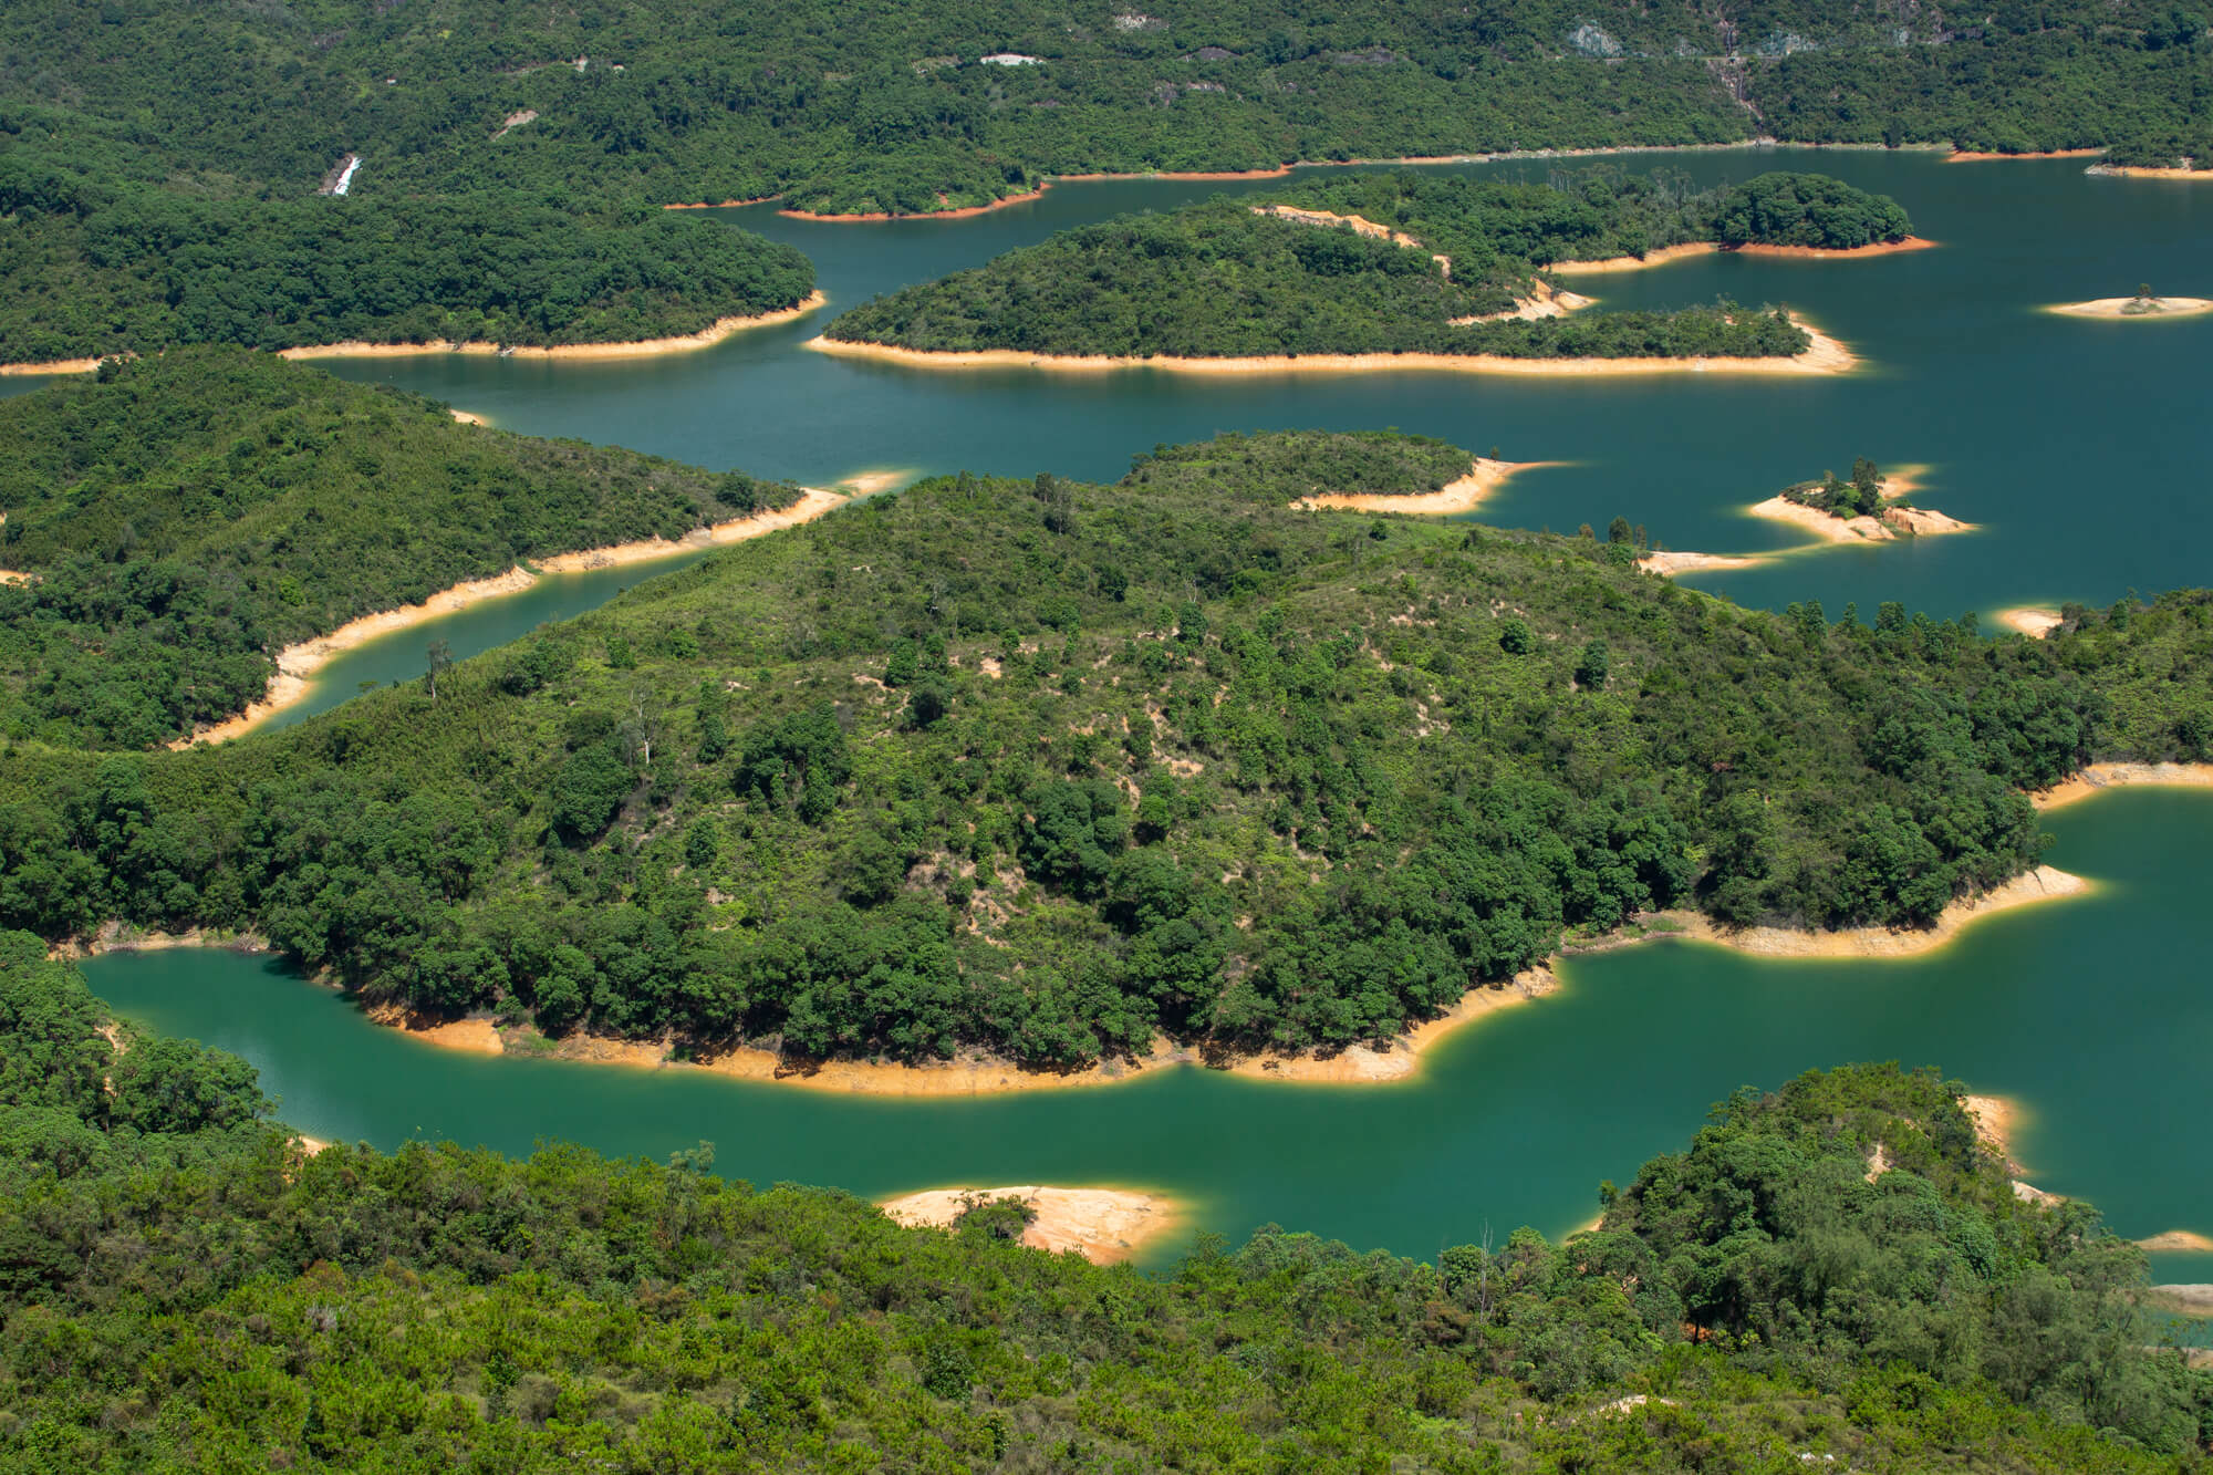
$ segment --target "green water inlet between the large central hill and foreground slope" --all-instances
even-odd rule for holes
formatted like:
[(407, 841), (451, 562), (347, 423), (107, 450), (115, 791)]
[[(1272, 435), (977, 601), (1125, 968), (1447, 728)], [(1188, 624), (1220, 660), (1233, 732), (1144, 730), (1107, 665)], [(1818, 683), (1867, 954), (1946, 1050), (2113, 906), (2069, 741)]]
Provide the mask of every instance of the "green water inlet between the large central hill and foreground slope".
[[(2047, 859), (2091, 897), (2025, 908), (1894, 961), (1770, 961), (1695, 943), (1567, 959), (1565, 988), (1447, 1039), (1396, 1085), (1312, 1087), (1202, 1070), (985, 1098), (832, 1096), (684, 1070), (438, 1050), (372, 1025), (263, 959), (117, 952), (93, 990), (162, 1034), (235, 1050), (325, 1138), (578, 1141), (879, 1198), (952, 1183), (1168, 1192), (1233, 1238), (1281, 1223), (1430, 1258), (1518, 1225), (1565, 1234), (1598, 1180), (1680, 1147), (1739, 1085), (1815, 1065), (1936, 1063), (2016, 1096), (2029, 1178), (2096, 1200), (2129, 1236), (2213, 1229), (2202, 855), (2213, 795), (2124, 791), (2051, 817)], [(1188, 1236), (1162, 1245), (1175, 1258)], [(2158, 1256), (2213, 1280), (2213, 1256)]]

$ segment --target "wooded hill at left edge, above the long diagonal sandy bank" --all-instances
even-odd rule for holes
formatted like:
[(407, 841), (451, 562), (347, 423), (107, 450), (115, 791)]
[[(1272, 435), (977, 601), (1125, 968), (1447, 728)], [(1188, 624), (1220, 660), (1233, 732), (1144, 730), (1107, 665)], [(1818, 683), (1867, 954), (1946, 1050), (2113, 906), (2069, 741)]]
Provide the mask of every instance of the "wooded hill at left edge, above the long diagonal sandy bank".
[(792, 496), (248, 350), (108, 361), (0, 401), (0, 738), (166, 742), (359, 616)]

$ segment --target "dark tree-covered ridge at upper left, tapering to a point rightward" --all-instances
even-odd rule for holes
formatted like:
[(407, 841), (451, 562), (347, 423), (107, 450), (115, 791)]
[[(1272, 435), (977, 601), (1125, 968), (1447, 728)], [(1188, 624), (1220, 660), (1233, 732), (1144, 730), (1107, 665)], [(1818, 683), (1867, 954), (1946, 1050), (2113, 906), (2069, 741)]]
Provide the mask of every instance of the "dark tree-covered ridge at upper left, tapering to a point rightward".
[(0, 363), (170, 343), (620, 343), (790, 308), (814, 268), (748, 230), (513, 190), (208, 199), (0, 153)]

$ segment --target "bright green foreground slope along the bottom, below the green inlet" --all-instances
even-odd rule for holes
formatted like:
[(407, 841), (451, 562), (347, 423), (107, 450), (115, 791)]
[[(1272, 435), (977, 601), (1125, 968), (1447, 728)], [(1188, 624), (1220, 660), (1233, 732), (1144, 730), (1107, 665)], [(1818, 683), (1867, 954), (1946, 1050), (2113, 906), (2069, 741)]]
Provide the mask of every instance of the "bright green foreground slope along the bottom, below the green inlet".
[(2149, 1475), (2213, 1420), (2142, 1251), (2014, 1200), (1930, 1074), (1744, 1092), (1562, 1247), (1268, 1227), (1153, 1278), (1011, 1242), (1011, 1205), (943, 1234), (564, 1145), (303, 1158), (246, 1063), (20, 932), (0, 1059), (20, 1471)]

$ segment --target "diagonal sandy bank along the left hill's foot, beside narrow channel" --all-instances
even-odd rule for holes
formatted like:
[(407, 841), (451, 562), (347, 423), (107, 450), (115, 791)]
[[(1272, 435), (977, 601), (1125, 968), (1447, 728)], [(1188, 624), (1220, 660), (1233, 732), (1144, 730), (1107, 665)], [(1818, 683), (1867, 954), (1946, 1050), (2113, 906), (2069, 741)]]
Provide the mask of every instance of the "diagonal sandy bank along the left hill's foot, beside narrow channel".
[(786, 527), (797, 527), (799, 523), (810, 523), (832, 507), (843, 507), (845, 501), (848, 498), (837, 492), (806, 487), (803, 496), (790, 507), (757, 512), (746, 518), (713, 523), (708, 527), (695, 527), (675, 540), (640, 538), (637, 543), (613, 543), (609, 547), (578, 549), (571, 554), (549, 554), (531, 560), (536, 571), (518, 563), (505, 574), (471, 578), (440, 589), (420, 605), (401, 605), (398, 609), (383, 609), (361, 616), (359, 620), (347, 620), (328, 636), (312, 636), (277, 651), (277, 673), (270, 678), (268, 691), (259, 700), (250, 702), (246, 711), (235, 718), (226, 718), (224, 722), (197, 729), (188, 738), (177, 738), (168, 746), (190, 749), (201, 742), (215, 744), (243, 738), (279, 711), (285, 711), (305, 698), (314, 689), (314, 673), (345, 651), (359, 649), (372, 640), (381, 640), (383, 636), (398, 633), (414, 625), (423, 625), (425, 620), (460, 613), (463, 609), (485, 600), (522, 594), (524, 589), (536, 587), (544, 574), (582, 574), (586, 569), (609, 569), (626, 563), (655, 563), (662, 558), (675, 558), (677, 554), (744, 543)]

